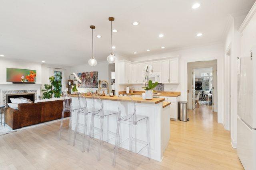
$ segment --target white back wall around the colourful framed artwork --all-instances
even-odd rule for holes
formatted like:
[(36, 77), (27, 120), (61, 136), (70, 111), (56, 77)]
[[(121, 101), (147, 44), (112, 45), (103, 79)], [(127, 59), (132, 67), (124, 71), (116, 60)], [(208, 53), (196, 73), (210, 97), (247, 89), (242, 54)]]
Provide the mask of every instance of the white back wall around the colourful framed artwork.
[[(96, 66), (90, 66), (89, 64), (83, 64), (79, 66), (70, 67), (68, 71), (68, 75), (78, 72), (90, 72), (90, 71), (98, 71), (98, 80), (107, 80), (109, 81), (109, 63), (106, 62), (98, 62)], [(111, 73), (110, 73), (111, 75)], [(73, 79), (73, 76), (72, 76)], [(78, 88), (78, 92), (87, 92), (88, 88)], [(93, 92), (98, 90), (98, 88), (90, 88)]]

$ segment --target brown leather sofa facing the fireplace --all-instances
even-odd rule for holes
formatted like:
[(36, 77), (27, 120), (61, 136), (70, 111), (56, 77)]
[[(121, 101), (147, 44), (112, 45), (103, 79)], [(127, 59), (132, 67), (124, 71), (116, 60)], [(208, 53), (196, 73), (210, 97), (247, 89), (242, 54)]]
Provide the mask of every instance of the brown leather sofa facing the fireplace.
[[(60, 119), (62, 115), (62, 100), (39, 102), (31, 104), (18, 104), (18, 110), (8, 107), (6, 109), (6, 124), (12, 129), (35, 125), (38, 123)], [(65, 113), (64, 117), (68, 117)]]

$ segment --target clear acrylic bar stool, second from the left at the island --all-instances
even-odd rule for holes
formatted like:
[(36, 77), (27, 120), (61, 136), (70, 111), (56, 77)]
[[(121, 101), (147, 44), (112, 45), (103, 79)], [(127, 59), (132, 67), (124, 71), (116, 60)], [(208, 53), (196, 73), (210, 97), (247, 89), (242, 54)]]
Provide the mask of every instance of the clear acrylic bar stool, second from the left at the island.
[(82, 152), (84, 152), (84, 141), (85, 141), (85, 137), (87, 136), (87, 116), (88, 116), (87, 102), (86, 102), (86, 98), (80, 92), (77, 92), (76, 95), (78, 97), (79, 109), (76, 115), (76, 128), (74, 132), (73, 146), (75, 146), (75, 143), (76, 143), (76, 134), (80, 135), (79, 125), (81, 125), (81, 123), (79, 122), (79, 119), (80, 119), (80, 115), (82, 115), (84, 116), (84, 124), (82, 124), (84, 126), (84, 131), (82, 133), (82, 135), (84, 136), (84, 139), (83, 139), (81, 150)]

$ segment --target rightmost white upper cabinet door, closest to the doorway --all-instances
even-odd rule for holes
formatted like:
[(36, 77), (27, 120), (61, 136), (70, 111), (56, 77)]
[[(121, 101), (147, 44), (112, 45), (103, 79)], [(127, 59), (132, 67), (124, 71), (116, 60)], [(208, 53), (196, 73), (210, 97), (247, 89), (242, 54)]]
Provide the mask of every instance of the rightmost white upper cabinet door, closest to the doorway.
[(170, 59), (170, 83), (179, 83), (179, 59)]

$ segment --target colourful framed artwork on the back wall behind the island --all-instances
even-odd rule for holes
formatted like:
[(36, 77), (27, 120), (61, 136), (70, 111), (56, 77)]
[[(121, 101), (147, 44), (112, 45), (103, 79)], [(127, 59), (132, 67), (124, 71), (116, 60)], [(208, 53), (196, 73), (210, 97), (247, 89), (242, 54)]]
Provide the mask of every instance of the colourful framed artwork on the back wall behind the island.
[(77, 76), (82, 81), (78, 82), (78, 87), (81, 88), (98, 88), (98, 71), (79, 72)]

